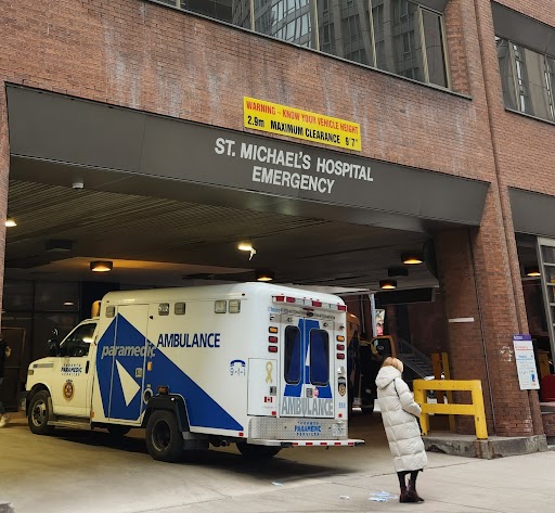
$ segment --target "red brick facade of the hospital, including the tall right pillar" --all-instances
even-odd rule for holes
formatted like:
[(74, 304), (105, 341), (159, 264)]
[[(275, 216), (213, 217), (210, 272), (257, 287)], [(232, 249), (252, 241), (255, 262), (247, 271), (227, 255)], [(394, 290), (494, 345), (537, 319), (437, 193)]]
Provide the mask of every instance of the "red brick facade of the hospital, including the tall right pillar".
[[(555, 26), (550, 2), (500, 3)], [(489, 0), (451, 0), (444, 20), (461, 94), (141, 0), (9, 2), (0, 80), (236, 130), (243, 97), (260, 98), (359, 121), (366, 157), (491, 183), (481, 227), (436, 240), (447, 318), (475, 319), (448, 324), (452, 374), (482, 380), (490, 433), (540, 434), (513, 359), (528, 325), (507, 187), (555, 195), (554, 128), (504, 110)], [(3, 87), (0, 103), (4, 211)]]

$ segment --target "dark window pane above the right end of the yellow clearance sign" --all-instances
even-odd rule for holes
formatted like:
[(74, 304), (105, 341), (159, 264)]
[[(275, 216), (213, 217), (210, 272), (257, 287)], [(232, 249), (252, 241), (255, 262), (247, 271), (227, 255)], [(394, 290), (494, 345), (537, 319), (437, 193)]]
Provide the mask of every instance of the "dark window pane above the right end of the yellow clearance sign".
[(320, 50), (360, 64), (373, 64), (367, 0), (318, 2)]

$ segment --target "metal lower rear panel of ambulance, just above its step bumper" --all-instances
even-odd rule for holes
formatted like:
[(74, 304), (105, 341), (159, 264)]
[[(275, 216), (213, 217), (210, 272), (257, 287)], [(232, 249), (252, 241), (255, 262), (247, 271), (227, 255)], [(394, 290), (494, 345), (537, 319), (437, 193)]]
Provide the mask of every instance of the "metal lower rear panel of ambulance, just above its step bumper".
[(249, 438), (274, 440), (348, 438), (347, 422), (337, 419), (307, 419), (300, 416), (256, 416), (249, 422)]

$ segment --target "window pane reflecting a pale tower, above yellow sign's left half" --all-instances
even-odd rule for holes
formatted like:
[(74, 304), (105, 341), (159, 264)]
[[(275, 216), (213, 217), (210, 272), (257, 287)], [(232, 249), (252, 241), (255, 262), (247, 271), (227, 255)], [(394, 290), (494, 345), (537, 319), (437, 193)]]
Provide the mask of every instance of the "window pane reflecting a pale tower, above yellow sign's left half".
[(317, 49), (315, 0), (257, 0), (255, 30), (301, 47)]

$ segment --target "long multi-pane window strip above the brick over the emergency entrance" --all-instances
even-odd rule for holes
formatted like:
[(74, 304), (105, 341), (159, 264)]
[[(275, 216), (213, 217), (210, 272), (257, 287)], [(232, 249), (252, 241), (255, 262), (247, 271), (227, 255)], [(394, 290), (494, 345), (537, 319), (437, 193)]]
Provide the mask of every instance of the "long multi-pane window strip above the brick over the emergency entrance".
[(158, 1), (413, 80), (449, 87), (442, 15), (418, 0)]

